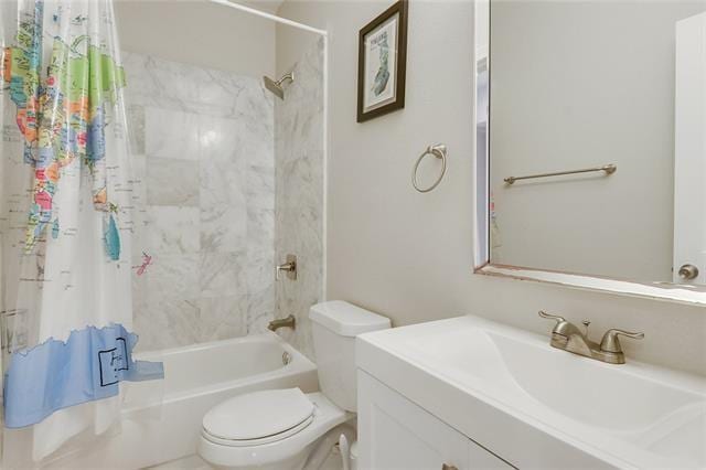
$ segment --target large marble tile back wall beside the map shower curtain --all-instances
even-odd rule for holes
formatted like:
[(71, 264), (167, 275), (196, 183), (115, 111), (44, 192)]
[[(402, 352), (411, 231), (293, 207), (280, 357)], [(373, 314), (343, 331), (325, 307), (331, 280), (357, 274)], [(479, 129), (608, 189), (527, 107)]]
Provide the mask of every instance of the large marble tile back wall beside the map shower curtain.
[(122, 60), (142, 199), (132, 244), (138, 348), (264, 331), (275, 311), (272, 96), (254, 77)]

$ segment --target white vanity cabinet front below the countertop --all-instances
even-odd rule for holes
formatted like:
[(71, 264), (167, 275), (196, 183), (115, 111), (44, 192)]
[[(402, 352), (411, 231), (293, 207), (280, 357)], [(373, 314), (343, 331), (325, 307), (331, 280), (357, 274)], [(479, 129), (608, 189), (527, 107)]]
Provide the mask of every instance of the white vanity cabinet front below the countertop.
[(512, 468), (373, 376), (357, 374), (359, 469)]

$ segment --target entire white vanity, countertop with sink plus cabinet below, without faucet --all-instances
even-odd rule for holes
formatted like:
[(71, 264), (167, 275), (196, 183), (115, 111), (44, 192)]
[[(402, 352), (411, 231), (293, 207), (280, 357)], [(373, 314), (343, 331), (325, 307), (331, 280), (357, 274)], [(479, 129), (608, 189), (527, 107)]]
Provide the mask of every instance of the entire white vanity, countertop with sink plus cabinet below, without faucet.
[(362, 469), (704, 468), (706, 380), (478, 317), (357, 340)]

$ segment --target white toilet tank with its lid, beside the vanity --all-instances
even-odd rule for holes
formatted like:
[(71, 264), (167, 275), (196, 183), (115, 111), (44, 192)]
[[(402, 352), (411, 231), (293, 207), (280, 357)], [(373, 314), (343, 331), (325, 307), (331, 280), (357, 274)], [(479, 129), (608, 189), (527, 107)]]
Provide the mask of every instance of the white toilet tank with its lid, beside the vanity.
[(389, 319), (342, 300), (309, 311), (321, 392), (339, 407), (356, 410), (355, 337), (389, 328)]

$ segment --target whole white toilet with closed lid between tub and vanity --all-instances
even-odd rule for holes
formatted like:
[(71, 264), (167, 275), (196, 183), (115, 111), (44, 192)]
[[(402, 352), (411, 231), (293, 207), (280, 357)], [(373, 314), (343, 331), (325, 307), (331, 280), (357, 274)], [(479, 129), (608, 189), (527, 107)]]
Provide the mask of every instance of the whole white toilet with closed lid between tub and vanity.
[(199, 455), (223, 469), (317, 468), (341, 434), (355, 439), (355, 337), (391, 327), (389, 319), (335, 300), (311, 307), (321, 392), (299, 388), (238, 395), (203, 418)]

